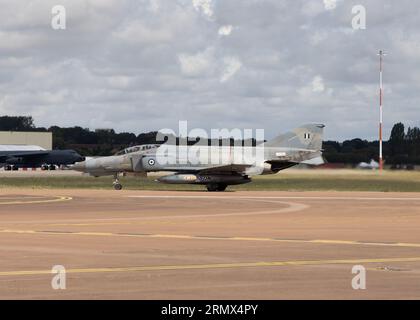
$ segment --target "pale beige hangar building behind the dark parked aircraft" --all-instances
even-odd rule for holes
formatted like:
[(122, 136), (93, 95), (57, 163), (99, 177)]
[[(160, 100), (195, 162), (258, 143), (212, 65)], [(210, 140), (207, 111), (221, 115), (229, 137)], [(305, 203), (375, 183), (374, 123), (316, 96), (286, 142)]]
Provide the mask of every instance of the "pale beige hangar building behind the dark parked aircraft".
[(35, 145), (52, 150), (52, 132), (0, 131), (0, 145)]

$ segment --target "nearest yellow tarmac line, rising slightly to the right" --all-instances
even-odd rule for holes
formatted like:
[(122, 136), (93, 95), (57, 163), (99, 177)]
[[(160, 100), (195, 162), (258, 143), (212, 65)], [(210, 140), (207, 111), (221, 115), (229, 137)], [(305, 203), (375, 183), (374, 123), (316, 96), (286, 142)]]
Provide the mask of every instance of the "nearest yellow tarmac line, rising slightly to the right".
[[(171, 271), (171, 270), (198, 270), (198, 269), (232, 269), (251, 267), (281, 267), (281, 266), (310, 266), (310, 265), (333, 265), (333, 264), (366, 264), (366, 263), (389, 263), (389, 262), (419, 262), (420, 257), (411, 258), (376, 258), (376, 259), (338, 259), (338, 260), (292, 260), (292, 261), (261, 261), (261, 262), (238, 262), (238, 263), (215, 263), (215, 264), (190, 264), (190, 265), (158, 265), (138, 267), (109, 267), (109, 268), (83, 268), (66, 269), (66, 273), (110, 273), (110, 272), (141, 272), (141, 271)], [(22, 270), (1, 271), (0, 276), (28, 276), (51, 274), (51, 270)]]

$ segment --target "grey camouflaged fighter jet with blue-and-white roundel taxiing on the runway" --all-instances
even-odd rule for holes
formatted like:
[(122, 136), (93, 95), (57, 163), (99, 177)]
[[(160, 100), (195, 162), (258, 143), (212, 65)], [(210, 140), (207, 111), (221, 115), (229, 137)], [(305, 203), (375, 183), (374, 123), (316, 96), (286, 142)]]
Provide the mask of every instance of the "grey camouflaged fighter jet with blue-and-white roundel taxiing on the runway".
[[(229, 185), (251, 182), (254, 175), (275, 174), (299, 163), (323, 163), (323, 128), (322, 124), (304, 125), (253, 147), (141, 145), (113, 156), (76, 163), (71, 169), (95, 177), (113, 175), (116, 190), (122, 189), (120, 173), (170, 172), (158, 181), (205, 185), (208, 191), (225, 191)], [(189, 157), (197, 154), (197, 150), (198, 157)], [(243, 157), (244, 154), (253, 156)]]

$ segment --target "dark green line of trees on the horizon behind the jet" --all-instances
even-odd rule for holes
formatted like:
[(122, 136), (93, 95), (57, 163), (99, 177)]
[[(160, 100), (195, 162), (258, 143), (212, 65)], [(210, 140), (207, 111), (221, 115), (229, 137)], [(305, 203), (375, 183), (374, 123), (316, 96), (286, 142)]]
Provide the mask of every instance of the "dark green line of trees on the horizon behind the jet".
[[(110, 155), (133, 145), (161, 143), (156, 141), (157, 131), (135, 135), (130, 132), (116, 133), (113, 129), (91, 131), (79, 126), (43, 128), (35, 126), (31, 116), (0, 117), (0, 131), (52, 132), (54, 149), (74, 149), (86, 156)], [(233, 143), (230, 140), (230, 144)], [(255, 145), (256, 141), (253, 140), (252, 144)], [(324, 141), (323, 144), (324, 157), (330, 163), (357, 164), (371, 159), (378, 161), (378, 148), (378, 141), (359, 138), (343, 142)], [(404, 124), (395, 124), (389, 140), (384, 141), (383, 148), (387, 164), (420, 164), (420, 129), (413, 127), (405, 130)]]

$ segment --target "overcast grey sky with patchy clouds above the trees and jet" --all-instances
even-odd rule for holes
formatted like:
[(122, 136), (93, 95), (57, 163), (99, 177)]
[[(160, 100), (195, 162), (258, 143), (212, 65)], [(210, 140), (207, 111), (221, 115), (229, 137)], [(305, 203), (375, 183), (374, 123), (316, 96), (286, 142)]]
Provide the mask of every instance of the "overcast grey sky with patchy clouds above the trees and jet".
[[(51, 8), (64, 5), (66, 30)], [(352, 7), (365, 6), (366, 30)], [(375, 139), (420, 125), (420, 4), (412, 0), (0, 0), (0, 114), (135, 133), (307, 122)]]

